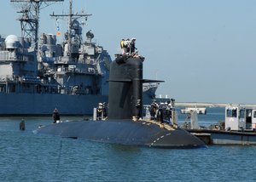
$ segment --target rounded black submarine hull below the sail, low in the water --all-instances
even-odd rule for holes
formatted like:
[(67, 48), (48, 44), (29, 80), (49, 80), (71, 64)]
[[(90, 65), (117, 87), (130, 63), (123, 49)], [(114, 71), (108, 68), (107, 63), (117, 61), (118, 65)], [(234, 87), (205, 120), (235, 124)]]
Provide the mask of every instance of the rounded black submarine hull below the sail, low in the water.
[(60, 122), (38, 128), (37, 134), (86, 139), (120, 145), (167, 149), (192, 149), (205, 146), (201, 139), (177, 128), (167, 130), (150, 122), (131, 120)]

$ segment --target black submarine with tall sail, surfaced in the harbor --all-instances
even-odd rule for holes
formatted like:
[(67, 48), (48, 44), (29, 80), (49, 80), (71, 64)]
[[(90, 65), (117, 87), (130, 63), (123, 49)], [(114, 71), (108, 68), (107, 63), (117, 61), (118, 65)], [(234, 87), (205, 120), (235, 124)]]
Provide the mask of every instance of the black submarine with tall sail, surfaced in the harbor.
[(106, 120), (53, 123), (38, 128), (36, 134), (166, 149), (205, 147), (201, 139), (182, 128), (161, 127), (142, 119), (143, 82), (161, 82), (143, 79), (144, 60), (138, 54), (116, 54), (110, 65)]

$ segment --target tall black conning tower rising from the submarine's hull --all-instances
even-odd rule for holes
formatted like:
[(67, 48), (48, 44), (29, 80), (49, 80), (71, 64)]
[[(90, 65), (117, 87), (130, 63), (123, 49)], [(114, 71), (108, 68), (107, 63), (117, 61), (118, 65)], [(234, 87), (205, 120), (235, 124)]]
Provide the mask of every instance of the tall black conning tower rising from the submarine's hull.
[(143, 60), (141, 56), (119, 55), (110, 66), (108, 118), (142, 117)]

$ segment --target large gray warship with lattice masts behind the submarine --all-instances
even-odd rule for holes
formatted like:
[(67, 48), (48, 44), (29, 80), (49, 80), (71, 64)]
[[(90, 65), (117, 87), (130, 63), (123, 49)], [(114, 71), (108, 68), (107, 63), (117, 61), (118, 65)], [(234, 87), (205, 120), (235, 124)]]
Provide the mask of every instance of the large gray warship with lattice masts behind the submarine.
[[(66, 18), (68, 30), (63, 43), (53, 34), (38, 38), (39, 9), (49, 2), (64, 0), (10, 0), (27, 3), (21, 14), (21, 37), (0, 36), (0, 116), (47, 116), (55, 108), (61, 115), (91, 115), (99, 102), (108, 102), (108, 51), (93, 42), (82, 21), (91, 14), (51, 14)], [(146, 102), (154, 99), (157, 84), (144, 86)]]

